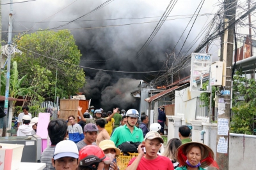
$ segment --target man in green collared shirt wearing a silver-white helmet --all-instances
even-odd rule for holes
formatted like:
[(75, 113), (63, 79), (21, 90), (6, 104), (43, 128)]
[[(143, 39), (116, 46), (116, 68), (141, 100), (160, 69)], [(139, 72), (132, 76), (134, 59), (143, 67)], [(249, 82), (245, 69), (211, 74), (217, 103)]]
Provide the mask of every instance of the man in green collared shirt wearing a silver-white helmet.
[(134, 109), (128, 110), (126, 112), (126, 117), (127, 124), (116, 128), (110, 138), (116, 146), (127, 141), (132, 141), (134, 143), (143, 141), (143, 132), (136, 127), (139, 117), (138, 111)]

